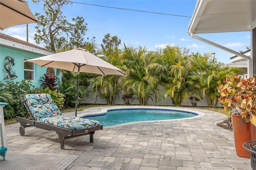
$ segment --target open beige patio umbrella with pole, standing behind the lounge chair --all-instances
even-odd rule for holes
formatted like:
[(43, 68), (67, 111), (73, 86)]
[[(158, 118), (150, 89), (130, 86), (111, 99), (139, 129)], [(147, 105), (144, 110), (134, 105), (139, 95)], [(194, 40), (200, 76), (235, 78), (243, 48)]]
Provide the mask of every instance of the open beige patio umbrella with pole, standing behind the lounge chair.
[(101, 75), (125, 75), (124, 71), (114, 65), (100, 59), (82, 47), (74, 48), (69, 51), (46, 55), (35, 59), (26, 60), (24, 62), (32, 62), (41, 67), (54, 67), (72, 72), (78, 72), (76, 87), (76, 112), (78, 103), (78, 82), (79, 73), (94, 73)]

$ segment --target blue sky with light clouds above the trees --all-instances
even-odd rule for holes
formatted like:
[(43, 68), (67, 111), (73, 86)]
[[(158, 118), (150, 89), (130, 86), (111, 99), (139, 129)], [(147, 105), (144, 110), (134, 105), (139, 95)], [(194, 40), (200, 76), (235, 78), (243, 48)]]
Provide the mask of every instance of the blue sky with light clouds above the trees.
[[(62, 9), (63, 15), (71, 22), (72, 18), (82, 16), (88, 24), (86, 38), (96, 37), (96, 43), (102, 43), (102, 39), (108, 33), (110, 36), (118, 36), (123, 44), (147, 49), (164, 47), (167, 44), (189, 48), (190, 51), (201, 54), (215, 52), (219, 62), (230, 63), (230, 57), (234, 56), (212, 45), (206, 44), (190, 37), (187, 34), (191, 18), (180, 16), (192, 16), (196, 6), (196, 0), (74, 0), (73, 2), (85, 3), (67, 5)], [(156, 12), (172, 15), (152, 14), (130, 10), (105, 8), (110, 6), (147, 12)], [(28, 6), (32, 14), (43, 13), (43, 4), (34, 4), (28, 0)], [(36, 24), (28, 24), (29, 42), (34, 42), (34, 27)], [(0, 31), (9, 36), (26, 41), (26, 25), (14, 26)], [(234, 51), (246, 51), (250, 46), (250, 32), (200, 34), (202, 38), (218, 43)], [(42, 46), (41, 44), (36, 44)]]

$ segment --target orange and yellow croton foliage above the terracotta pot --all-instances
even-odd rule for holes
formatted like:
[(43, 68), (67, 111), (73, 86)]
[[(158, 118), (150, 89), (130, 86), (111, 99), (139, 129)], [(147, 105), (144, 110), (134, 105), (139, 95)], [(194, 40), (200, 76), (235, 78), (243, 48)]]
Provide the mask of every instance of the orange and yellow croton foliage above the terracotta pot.
[(241, 76), (233, 76), (224, 79), (224, 83), (218, 82), (218, 99), (224, 109), (232, 109), (236, 115), (241, 115), (246, 122), (256, 126), (256, 82), (254, 77), (241, 79)]

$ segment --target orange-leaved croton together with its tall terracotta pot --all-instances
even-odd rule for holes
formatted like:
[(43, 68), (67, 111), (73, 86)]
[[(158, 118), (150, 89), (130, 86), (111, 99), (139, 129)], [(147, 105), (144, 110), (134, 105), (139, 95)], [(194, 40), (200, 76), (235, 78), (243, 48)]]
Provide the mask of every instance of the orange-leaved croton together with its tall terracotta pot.
[(256, 140), (256, 82), (254, 77), (241, 79), (234, 76), (218, 82), (218, 99), (224, 109), (232, 109), (232, 126), (236, 154), (250, 158), (250, 152), (244, 150), (245, 142)]

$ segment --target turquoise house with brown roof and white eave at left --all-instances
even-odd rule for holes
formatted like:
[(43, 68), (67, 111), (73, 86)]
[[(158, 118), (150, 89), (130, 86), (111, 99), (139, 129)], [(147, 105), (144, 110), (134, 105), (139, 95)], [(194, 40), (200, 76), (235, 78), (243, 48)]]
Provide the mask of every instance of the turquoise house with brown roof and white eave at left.
[(54, 53), (54, 51), (0, 33), (0, 81), (31, 79), (34, 86), (40, 87), (42, 82), (39, 80), (46, 74), (48, 68), (30, 62), (24, 63), (24, 60)]

